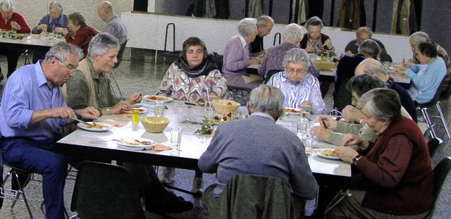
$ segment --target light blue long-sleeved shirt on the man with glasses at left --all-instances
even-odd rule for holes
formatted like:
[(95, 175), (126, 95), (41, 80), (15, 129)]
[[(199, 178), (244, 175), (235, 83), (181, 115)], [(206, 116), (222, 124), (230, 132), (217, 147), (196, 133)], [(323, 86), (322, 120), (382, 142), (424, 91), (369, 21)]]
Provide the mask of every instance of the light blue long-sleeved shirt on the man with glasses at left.
[(0, 106), (0, 132), (3, 137), (54, 139), (65, 119), (47, 118), (30, 125), (35, 111), (67, 106), (61, 87), (49, 87), (42, 61), (16, 70), (6, 82)]

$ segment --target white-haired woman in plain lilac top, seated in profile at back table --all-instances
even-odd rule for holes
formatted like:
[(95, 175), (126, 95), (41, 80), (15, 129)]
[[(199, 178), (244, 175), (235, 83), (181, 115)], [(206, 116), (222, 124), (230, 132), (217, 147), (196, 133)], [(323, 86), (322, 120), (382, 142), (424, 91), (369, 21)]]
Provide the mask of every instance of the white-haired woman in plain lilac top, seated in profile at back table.
[(224, 49), (222, 73), (229, 85), (253, 89), (261, 85), (263, 79), (255, 80), (247, 76), (246, 68), (249, 65), (259, 64), (261, 58), (249, 59), (249, 44), (254, 42), (259, 31), (255, 18), (244, 18), (238, 23), (238, 35), (229, 39)]

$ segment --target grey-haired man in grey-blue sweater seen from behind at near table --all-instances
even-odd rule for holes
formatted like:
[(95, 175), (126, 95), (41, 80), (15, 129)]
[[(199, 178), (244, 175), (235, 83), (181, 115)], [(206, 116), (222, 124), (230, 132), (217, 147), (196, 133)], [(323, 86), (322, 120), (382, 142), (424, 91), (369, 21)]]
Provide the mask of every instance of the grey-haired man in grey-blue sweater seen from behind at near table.
[(199, 158), (199, 169), (216, 173), (215, 184), (202, 197), (212, 206), (234, 175), (278, 177), (292, 196), (314, 199), (317, 183), (304, 146), (296, 134), (276, 125), (283, 112), (283, 93), (276, 87), (260, 85), (252, 90), (247, 111), (249, 119), (232, 120), (218, 127), (209, 147)]

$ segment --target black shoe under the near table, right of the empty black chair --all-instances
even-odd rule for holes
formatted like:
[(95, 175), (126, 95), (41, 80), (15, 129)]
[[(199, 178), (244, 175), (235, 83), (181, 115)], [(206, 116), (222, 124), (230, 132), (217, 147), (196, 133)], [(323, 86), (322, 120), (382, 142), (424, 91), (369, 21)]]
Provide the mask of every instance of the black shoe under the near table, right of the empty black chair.
[(146, 211), (154, 213), (180, 213), (190, 211), (193, 205), (185, 201), (183, 197), (176, 196), (173, 192), (166, 191), (164, 194), (146, 199)]

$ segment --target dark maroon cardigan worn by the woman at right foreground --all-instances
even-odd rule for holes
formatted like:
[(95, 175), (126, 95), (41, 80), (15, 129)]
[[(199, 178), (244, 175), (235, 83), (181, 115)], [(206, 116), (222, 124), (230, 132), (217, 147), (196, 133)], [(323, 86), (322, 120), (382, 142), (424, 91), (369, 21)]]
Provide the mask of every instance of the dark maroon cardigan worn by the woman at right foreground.
[[(393, 144), (402, 142), (392, 140), (399, 137), (407, 137), (411, 142), (409, 149), (412, 150), (406, 150), (412, 152), (409, 153), (411, 156), (388, 161), (387, 158), (393, 157), (393, 153), (399, 154), (402, 147), (409, 147), (406, 144)], [(416, 123), (399, 116), (370, 146), (366, 158), (360, 159), (356, 165), (364, 175), (364, 180), (373, 185), (373, 189), (366, 192), (362, 206), (393, 215), (417, 215), (431, 210), (435, 199), (432, 161), (426, 140)], [(402, 154), (397, 157), (402, 157)], [(402, 166), (407, 168), (399, 168)], [(375, 178), (375, 175), (378, 176)], [(399, 182), (381, 185), (385, 181), (393, 181), (396, 175), (401, 175), (395, 179)]]

